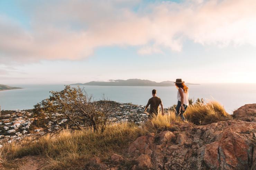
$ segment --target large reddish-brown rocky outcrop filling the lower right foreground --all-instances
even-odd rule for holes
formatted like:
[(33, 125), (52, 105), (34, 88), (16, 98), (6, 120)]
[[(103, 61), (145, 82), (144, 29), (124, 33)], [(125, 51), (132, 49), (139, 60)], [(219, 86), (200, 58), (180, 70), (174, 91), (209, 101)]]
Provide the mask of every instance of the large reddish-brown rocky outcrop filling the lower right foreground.
[(141, 136), (129, 145), (125, 161), (133, 170), (256, 170), (255, 107), (239, 108), (233, 120), (182, 123), (177, 131)]

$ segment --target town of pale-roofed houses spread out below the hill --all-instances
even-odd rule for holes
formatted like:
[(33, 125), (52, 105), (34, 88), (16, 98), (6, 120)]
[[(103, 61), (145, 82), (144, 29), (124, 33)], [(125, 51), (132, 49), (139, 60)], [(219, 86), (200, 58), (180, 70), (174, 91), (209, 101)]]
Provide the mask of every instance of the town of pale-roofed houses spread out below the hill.
[[(115, 112), (109, 118), (114, 123), (134, 122), (137, 124), (146, 121), (147, 114), (144, 113), (145, 106), (135, 105), (131, 103), (116, 103), (114, 106)], [(43, 134), (42, 128), (33, 125), (33, 110), (15, 110), (5, 111), (0, 110), (0, 148), (1, 142), (9, 142), (21, 140), (36, 134)], [(61, 120), (58, 124), (48, 122), (52, 128), (59, 129), (61, 124), (64, 124), (67, 119)]]

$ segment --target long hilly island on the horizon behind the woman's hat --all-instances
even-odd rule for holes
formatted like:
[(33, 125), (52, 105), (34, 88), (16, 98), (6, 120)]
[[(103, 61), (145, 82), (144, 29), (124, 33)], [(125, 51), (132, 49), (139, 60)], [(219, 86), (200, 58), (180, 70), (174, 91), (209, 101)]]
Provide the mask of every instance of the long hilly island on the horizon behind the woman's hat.
[[(188, 85), (199, 85), (193, 83), (186, 83)], [(86, 86), (175, 86), (174, 81), (155, 82), (141, 79), (128, 80), (109, 80), (109, 81), (90, 81), (88, 83), (75, 83), (71, 85), (86, 85)]]

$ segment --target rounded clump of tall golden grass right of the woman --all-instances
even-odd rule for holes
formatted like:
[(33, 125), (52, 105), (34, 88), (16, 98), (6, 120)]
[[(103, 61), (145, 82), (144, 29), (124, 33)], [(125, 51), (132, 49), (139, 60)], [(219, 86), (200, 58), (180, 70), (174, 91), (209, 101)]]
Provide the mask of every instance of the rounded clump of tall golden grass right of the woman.
[(209, 101), (206, 104), (196, 103), (189, 105), (184, 113), (184, 117), (196, 125), (209, 124), (232, 118), (217, 101)]

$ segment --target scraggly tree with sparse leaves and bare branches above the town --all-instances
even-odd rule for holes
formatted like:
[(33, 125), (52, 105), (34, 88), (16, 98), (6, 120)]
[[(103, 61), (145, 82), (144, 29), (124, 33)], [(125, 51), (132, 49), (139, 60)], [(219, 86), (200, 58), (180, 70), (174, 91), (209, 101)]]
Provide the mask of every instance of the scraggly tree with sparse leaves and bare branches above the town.
[(94, 101), (84, 88), (71, 86), (51, 93), (52, 96), (34, 106), (34, 122), (45, 132), (58, 132), (62, 128), (82, 130), (85, 126), (103, 132), (110, 122), (113, 106), (104, 96), (102, 100)]

